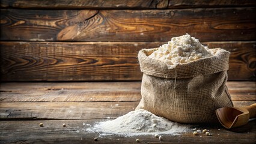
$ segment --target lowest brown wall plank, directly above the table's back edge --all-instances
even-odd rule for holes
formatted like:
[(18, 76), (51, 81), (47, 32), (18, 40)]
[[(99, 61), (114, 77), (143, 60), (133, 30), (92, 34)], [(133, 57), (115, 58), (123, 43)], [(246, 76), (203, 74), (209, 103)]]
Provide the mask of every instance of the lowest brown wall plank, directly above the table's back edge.
[[(1, 41), (1, 80), (141, 80), (138, 51), (166, 42)], [(255, 41), (204, 42), (231, 52), (229, 80), (255, 80)]]

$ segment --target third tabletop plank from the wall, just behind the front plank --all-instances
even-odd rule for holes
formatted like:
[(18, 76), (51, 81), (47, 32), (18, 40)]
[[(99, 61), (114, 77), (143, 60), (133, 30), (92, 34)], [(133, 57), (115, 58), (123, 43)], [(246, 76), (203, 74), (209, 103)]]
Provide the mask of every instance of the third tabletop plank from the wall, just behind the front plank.
[[(235, 107), (256, 101), (233, 101)], [(135, 110), (139, 101), (131, 102), (5, 102), (0, 103), (1, 120), (32, 119), (107, 119)]]

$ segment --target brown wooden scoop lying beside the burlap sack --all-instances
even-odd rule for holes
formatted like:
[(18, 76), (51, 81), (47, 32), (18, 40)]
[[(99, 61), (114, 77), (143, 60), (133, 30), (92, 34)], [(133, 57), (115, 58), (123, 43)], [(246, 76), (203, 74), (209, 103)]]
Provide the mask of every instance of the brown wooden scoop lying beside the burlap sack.
[(225, 128), (240, 127), (247, 124), (250, 118), (256, 118), (256, 103), (247, 107), (222, 107), (215, 112)]

